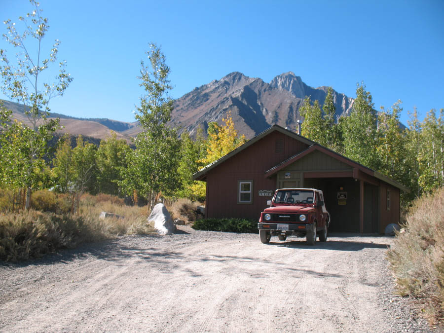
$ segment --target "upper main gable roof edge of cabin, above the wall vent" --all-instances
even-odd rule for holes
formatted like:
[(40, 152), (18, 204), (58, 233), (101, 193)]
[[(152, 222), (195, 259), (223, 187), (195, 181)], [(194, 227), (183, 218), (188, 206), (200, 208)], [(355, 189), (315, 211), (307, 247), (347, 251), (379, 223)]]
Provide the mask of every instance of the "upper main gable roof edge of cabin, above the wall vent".
[(260, 139), (266, 137), (268, 134), (270, 134), (271, 132), (274, 131), (278, 131), (281, 132), (293, 139), (299, 140), (300, 142), (306, 144), (306, 145), (314, 145), (315, 142), (308, 140), (307, 138), (304, 138), (298, 134), (296, 134), (295, 132), (289, 131), (279, 125), (273, 125), (271, 127), (269, 127), (268, 129), (266, 129), (265, 131), (263, 131), (262, 133), (258, 134), (257, 136), (255, 136), (253, 139), (250, 139), (249, 141), (247, 141), (245, 144), (243, 144), (242, 146), (230, 151), (228, 154), (226, 154), (225, 156), (222, 156), (221, 158), (219, 158), (218, 160), (214, 161), (213, 163), (208, 164), (207, 166), (203, 167), (202, 169), (200, 169), (198, 172), (196, 172), (193, 175), (193, 179), (194, 180), (201, 180), (203, 179), (203, 176), (205, 176), (205, 174), (210, 171), (211, 169), (213, 169), (214, 167), (218, 166), (219, 164), (221, 164), (222, 162), (226, 161), (228, 158), (236, 155), (237, 153), (241, 152), (242, 150), (250, 147), (251, 145), (253, 145), (254, 143), (258, 142)]

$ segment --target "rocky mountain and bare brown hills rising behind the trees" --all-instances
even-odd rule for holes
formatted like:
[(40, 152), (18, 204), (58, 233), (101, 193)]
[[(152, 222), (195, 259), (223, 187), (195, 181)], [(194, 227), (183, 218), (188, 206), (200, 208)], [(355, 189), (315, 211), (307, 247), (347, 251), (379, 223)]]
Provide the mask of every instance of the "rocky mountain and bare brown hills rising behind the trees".
[[(306, 85), (292, 72), (274, 77), (270, 83), (260, 78), (248, 77), (239, 72), (230, 73), (219, 80), (196, 87), (174, 101), (170, 124), (181, 126), (182, 131), (196, 133), (198, 127), (204, 131), (208, 123), (222, 123), (222, 118), (231, 111), (235, 128), (247, 139), (254, 137), (274, 124), (297, 131), (296, 121), (302, 120), (299, 108), (305, 96), (318, 100), (323, 105), (328, 87), (313, 88)], [(354, 100), (333, 90), (336, 119), (348, 115)], [(29, 123), (22, 105), (4, 101), (5, 106), (14, 112), (14, 117)], [(84, 135), (105, 139), (111, 131), (117, 137), (130, 142), (130, 138), (141, 132), (136, 122), (128, 123), (107, 118), (76, 118), (60, 113), (50, 113), (50, 117), (60, 118), (64, 129), (61, 133)]]

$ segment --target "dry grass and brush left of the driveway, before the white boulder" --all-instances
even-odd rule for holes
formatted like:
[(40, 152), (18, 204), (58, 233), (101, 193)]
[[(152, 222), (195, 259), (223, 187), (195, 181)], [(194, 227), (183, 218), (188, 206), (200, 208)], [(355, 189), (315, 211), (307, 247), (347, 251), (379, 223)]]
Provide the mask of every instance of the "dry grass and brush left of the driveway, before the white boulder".
[[(50, 194), (44, 194), (44, 203)], [(50, 203), (50, 202), (49, 202)], [(149, 234), (155, 230), (147, 222), (147, 207), (125, 206), (123, 200), (106, 195), (85, 195), (79, 216), (31, 210), (0, 214), (0, 260), (18, 261), (80, 243), (110, 239), (123, 234)], [(99, 219), (102, 211), (122, 219)]]

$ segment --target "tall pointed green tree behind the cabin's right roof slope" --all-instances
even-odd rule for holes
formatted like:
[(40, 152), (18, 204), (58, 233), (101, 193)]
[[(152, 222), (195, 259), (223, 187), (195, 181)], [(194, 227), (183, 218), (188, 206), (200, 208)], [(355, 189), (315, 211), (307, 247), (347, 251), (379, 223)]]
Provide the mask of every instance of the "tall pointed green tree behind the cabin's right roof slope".
[(344, 154), (358, 163), (373, 170), (379, 169), (378, 133), (373, 102), (366, 86), (361, 84), (356, 89), (353, 110), (348, 117), (343, 117)]

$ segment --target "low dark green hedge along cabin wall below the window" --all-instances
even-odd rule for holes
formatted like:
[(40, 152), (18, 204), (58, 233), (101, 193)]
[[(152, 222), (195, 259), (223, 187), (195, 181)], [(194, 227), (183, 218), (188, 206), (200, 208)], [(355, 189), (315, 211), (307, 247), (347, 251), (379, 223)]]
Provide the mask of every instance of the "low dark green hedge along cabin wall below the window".
[(258, 233), (258, 221), (249, 219), (202, 219), (193, 224), (193, 229)]

